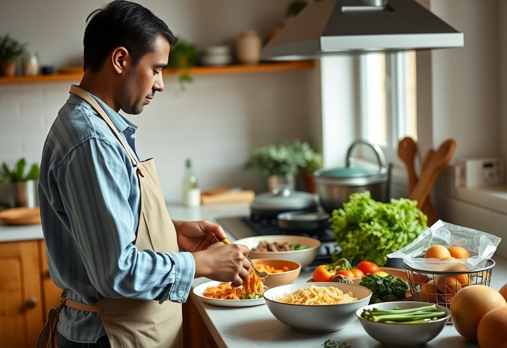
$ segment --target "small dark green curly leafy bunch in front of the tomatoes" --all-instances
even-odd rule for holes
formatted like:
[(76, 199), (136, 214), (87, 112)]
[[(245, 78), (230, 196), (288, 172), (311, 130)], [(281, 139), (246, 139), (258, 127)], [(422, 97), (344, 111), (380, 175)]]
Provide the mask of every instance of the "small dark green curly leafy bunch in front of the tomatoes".
[(394, 279), (392, 274), (385, 277), (368, 274), (361, 279), (359, 285), (372, 290), (373, 294), (372, 298), (370, 298), (370, 303), (388, 302), (405, 298), (406, 292), (409, 289), (407, 283), (400, 278)]

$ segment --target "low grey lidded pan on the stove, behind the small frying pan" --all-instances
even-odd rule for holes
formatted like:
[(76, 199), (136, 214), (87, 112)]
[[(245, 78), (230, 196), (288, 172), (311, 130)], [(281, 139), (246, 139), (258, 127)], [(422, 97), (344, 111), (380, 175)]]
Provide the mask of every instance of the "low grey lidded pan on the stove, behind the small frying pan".
[(315, 197), (307, 192), (293, 191), (286, 185), (279, 185), (271, 192), (261, 193), (250, 203), (250, 219), (259, 221), (276, 219), (286, 211), (310, 212), (317, 210)]

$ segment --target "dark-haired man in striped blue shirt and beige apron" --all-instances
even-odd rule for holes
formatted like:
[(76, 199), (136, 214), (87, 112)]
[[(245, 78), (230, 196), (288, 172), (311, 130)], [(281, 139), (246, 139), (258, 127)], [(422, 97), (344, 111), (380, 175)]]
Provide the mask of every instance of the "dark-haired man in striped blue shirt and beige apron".
[[(171, 30), (123, 0), (90, 14), (84, 76), (71, 86), (44, 145), (40, 206), (51, 278), (64, 290), (60, 347), (180, 346), (192, 279), (239, 286), (246, 247), (214, 243), (217, 225), (172, 222), (153, 159), (140, 161), (139, 114), (162, 92)], [(186, 252), (178, 252), (178, 247)], [(58, 312), (41, 332), (51, 334)]]

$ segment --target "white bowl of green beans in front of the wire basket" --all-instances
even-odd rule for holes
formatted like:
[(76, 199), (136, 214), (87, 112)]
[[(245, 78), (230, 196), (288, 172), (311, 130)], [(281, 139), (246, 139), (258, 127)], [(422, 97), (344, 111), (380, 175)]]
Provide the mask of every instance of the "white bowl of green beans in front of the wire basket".
[(451, 311), (428, 302), (382, 302), (355, 312), (365, 331), (387, 347), (416, 348), (437, 337)]

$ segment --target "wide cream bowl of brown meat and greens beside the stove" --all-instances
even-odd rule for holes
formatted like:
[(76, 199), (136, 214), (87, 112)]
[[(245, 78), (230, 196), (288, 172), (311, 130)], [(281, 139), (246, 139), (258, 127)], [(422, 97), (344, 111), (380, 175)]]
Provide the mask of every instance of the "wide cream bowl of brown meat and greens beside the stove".
[(311, 264), (320, 248), (318, 239), (291, 235), (255, 236), (238, 239), (234, 243), (250, 249), (250, 258), (289, 260), (301, 267)]

